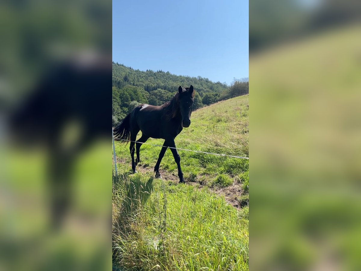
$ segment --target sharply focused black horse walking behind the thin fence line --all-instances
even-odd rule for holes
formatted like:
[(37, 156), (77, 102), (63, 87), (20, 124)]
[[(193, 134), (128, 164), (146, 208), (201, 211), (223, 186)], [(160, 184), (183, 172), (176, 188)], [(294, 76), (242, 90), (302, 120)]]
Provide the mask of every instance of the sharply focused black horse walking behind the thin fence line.
[[(132, 157), (132, 169), (135, 173), (135, 166), (139, 162), (139, 149), (142, 144), (152, 138), (165, 139), (158, 161), (154, 167), (156, 178), (159, 173), (159, 165), (168, 147), (175, 148), (174, 138), (191, 125), (191, 113), (193, 106), (194, 90), (193, 86), (182, 88), (179, 86), (174, 97), (161, 106), (151, 106), (140, 104), (129, 113), (116, 128), (113, 129), (114, 140), (130, 142), (130, 155)], [(136, 160), (134, 160), (134, 145), (136, 135), (142, 131), (142, 137), (136, 143)], [(139, 142), (139, 143), (138, 143)], [(177, 149), (170, 148), (173, 153), (175, 163), (178, 166), (179, 182), (185, 183), (181, 169), (181, 157)]]

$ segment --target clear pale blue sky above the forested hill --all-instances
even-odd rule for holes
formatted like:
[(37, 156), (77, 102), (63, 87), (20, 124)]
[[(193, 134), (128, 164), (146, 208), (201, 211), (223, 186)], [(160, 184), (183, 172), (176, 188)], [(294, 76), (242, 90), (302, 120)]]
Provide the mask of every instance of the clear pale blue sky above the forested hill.
[(228, 84), (248, 77), (248, 0), (113, 0), (113, 61)]

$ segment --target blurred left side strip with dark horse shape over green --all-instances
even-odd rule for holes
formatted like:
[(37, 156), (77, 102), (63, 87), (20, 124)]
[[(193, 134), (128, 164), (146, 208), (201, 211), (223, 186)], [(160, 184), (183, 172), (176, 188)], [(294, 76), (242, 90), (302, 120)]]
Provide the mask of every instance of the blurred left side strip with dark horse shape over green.
[(110, 270), (112, 2), (5, 0), (0, 24), (0, 270)]

